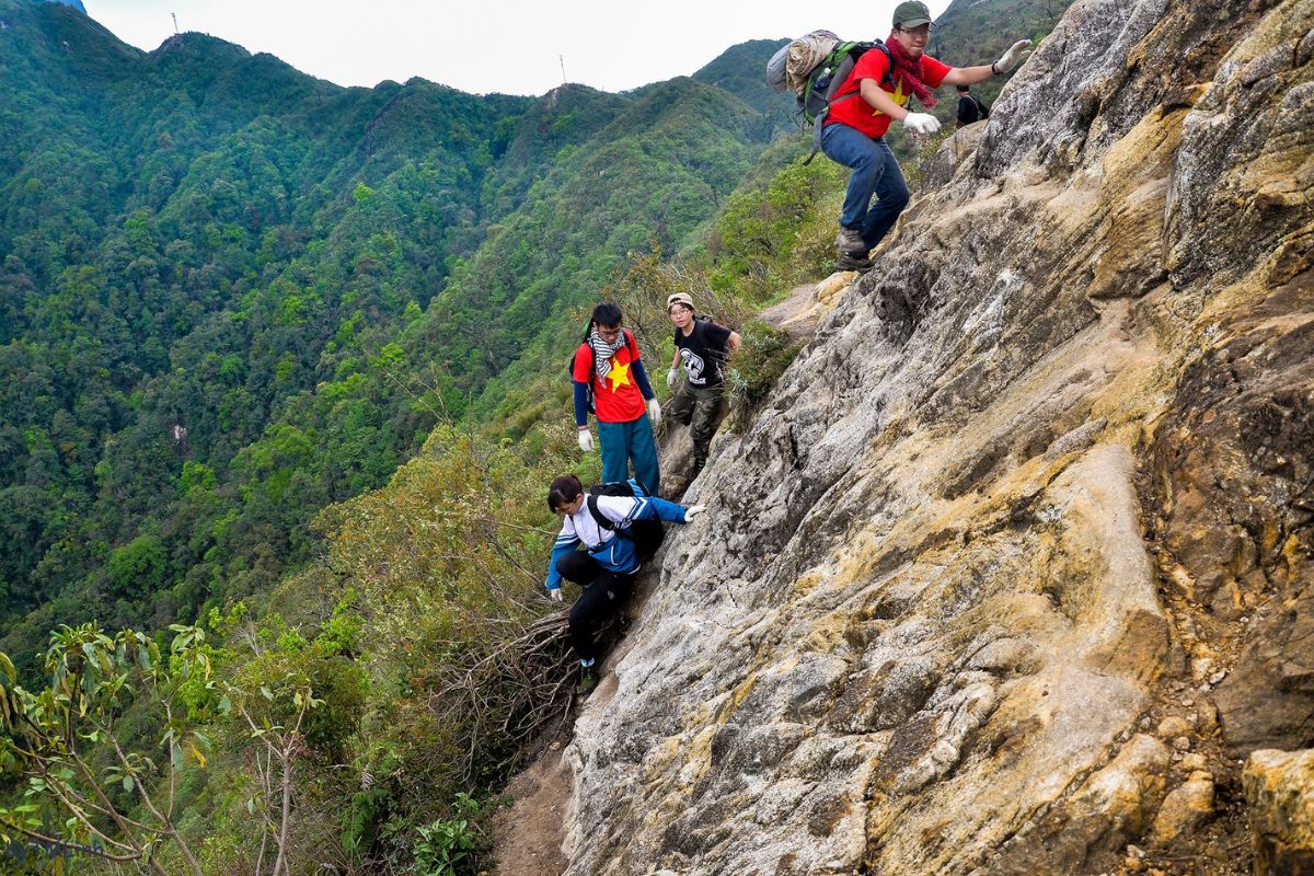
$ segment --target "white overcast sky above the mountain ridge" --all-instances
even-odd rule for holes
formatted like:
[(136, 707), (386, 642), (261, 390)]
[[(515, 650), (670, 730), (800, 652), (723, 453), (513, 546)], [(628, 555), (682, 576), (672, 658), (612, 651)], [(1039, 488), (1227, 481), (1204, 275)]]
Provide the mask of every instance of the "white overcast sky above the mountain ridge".
[[(884, 38), (897, 0), (83, 0), (124, 42), (152, 50), (198, 30), (339, 85), (420, 76), (473, 93), (543, 95), (566, 79), (602, 91), (689, 75), (748, 39), (817, 28)], [(941, 14), (949, 0), (928, 0)]]

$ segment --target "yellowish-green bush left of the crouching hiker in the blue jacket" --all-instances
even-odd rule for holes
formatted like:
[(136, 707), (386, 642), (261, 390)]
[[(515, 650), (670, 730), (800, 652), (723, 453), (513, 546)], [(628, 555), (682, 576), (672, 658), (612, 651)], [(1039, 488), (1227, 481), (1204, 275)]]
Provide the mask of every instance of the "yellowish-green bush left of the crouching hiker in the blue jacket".
[[(352, 743), (363, 779), (389, 788), (371, 821), (396, 826), (435, 797), (505, 780), (536, 721), (569, 703), (564, 613), (543, 595), (556, 533), (547, 485), (574, 468), (566, 427), (540, 433), (537, 453), (439, 427), (386, 490), (317, 524), (326, 563), (368, 608)], [(518, 651), (524, 641), (537, 650)]]

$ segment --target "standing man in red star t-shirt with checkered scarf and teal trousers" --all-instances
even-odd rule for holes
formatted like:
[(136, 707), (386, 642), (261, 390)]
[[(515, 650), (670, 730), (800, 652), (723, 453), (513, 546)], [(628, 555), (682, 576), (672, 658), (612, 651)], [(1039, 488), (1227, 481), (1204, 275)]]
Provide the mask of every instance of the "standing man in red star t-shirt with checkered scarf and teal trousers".
[(657, 495), (661, 471), (653, 428), (661, 423), (661, 405), (648, 382), (635, 336), (622, 327), (620, 306), (604, 302), (593, 309), (583, 341), (576, 349), (574, 412), (579, 449), (593, 450), (589, 435), (589, 397), (598, 418), (602, 445), (602, 479), (610, 483), (635, 477)]

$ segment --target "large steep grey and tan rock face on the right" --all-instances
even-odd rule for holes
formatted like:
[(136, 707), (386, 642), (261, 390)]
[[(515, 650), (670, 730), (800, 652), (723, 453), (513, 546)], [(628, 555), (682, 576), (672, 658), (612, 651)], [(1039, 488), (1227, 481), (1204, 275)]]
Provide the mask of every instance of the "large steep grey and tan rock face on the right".
[(715, 445), (566, 872), (1112, 872), (1314, 742), (1311, 28), (1068, 11)]

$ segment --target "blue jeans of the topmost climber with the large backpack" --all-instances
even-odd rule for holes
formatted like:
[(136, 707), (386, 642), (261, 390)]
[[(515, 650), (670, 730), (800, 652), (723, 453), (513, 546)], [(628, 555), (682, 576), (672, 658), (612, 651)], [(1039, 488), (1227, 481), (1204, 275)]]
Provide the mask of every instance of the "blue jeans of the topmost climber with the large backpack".
[[(895, 154), (884, 139), (874, 141), (842, 122), (821, 129), (821, 151), (832, 162), (853, 168), (840, 225), (862, 231), (862, 242), (871, 250), (908, 206), (908, 184)], [(876, 204), (869, 210), (871, 196)]]

